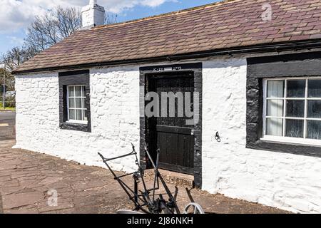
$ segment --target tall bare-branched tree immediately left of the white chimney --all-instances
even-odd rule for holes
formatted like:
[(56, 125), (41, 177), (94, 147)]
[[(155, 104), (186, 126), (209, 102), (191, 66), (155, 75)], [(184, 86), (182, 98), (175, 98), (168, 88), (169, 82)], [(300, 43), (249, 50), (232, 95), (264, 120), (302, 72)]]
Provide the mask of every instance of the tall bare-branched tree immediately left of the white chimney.
[(79, 9), (61, 6), (48, 11), (44, 16), (36, 16), (34, 22), (29, 26), (25, 38), (26, 43), (37, 51), (58, 43), (63, 38), (81, 28), (81, 12)]

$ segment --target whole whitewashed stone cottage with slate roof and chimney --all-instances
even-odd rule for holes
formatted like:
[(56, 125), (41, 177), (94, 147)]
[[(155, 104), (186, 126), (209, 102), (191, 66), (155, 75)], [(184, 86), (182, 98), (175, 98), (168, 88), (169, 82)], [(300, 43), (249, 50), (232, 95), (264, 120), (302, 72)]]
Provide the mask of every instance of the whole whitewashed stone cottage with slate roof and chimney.
[[(223, 1), (106, 26), (96, 1), (83, 11), (84, 29), (14, 72), (15, 147), (102, 165), (97, 152), (131, 142), (146, 162), (148, 143), (203, 190), (321, 212), (320, 0)], [(198, 93), (199, 121), (146, 118), (148, 91)]]

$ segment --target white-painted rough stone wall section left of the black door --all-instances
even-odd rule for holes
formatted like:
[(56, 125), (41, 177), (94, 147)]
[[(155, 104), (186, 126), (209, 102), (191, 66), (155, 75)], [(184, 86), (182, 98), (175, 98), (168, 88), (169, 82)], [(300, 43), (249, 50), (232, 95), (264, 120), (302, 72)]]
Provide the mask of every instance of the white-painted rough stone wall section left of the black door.
[[(16, 77), (16, 146), (86, 165), (105, 167), (98, 157), (139, 152), (137, 67), (91, 69), (92, 133), (59, 128), (58, 73)], [(116, 170), (137, 170), (134, 157), (116, 160)]]

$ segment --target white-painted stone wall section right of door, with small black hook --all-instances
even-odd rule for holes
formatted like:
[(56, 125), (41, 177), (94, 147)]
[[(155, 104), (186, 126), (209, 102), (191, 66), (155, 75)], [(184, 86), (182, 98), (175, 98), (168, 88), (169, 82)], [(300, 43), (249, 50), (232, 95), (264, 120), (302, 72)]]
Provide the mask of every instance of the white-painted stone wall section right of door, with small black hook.
[(203, 68), (203, 190), (320, 213), (320, 158), (245, 148), (246, 60), (218, 59)]

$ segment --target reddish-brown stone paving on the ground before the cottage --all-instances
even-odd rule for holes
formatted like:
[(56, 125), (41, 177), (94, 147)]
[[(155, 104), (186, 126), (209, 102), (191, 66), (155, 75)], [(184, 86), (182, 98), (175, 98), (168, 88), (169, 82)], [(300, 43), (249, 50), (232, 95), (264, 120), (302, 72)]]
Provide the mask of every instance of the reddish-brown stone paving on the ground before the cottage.
[[(102, 214), (119, 209), (133, 209), (111, 173), (100, 167), (26, 150), (12, 149), (14, 141), (0, 141), (0, 213), (12, 214)], [(132, 178), (126, 180), (132, 183)], [(152, 182), (148, 182), (151, 186)], [(169, 185), (175, 191), (174, 185)], [(52, 192), (57, 191), (57, 204), (52, 207)], [(230, 199), (223, 195), (191, 190), (195, 202), (208, 213), (286, 213), (261, 204)], [(178, 187), (178, 205), (190, 202), (184, 187)]]

